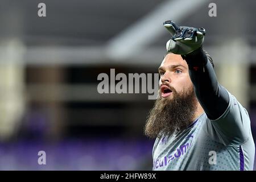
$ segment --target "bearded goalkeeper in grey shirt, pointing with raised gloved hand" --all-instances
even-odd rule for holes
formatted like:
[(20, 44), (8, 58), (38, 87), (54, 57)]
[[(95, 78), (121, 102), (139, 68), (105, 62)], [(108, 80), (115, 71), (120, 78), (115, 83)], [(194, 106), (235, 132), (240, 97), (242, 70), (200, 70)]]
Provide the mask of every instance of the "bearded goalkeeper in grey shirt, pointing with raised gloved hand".
[(204, 28), (168, 20), (172, 38), (159, 67), (159, 98), (144, 133), (156, 138), (153, 170), (253, 170), (247, 110), (217, 81)]

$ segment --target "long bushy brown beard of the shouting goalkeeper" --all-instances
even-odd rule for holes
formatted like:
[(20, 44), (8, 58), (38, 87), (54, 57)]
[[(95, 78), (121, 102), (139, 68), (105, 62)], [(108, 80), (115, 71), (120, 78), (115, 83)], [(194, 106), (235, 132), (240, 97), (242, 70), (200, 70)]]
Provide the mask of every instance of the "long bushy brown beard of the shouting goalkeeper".
[(152, 139), (161, 134), (171, 135), (186, 129), (195, 117), (197, 98), (193, 87), (187, 92), (177, 93), (170, 88), (174, 97), (172, 100), (160, 96), (150, 110), (144, 134)]

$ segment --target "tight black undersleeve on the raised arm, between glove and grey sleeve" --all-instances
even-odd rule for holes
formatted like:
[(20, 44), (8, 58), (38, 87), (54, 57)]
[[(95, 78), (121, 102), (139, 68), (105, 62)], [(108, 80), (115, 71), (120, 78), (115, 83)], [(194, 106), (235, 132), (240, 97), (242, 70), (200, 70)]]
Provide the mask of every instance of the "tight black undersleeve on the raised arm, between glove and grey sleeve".
[(193, 83), (197, 100), (208, 118), (217, 119), (228, 107), (228, 92), (218, 83), (213, 66), (203, 48), (192, 53), (192, 55), (190, 53), (183, 57), (188, 63), (189, 76)]

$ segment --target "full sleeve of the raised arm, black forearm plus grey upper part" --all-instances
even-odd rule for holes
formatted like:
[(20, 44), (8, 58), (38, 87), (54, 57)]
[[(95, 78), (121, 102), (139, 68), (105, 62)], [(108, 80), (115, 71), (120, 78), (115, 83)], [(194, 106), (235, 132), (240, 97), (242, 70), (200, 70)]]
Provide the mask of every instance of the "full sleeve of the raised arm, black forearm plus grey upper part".
[(218, 83), (203, 48), (183, 58), (188, 63), (196, 97), (207, 115), (207, 133), (225, 145), (246, 142), (251, 133), (249, 114), (236, 98)]

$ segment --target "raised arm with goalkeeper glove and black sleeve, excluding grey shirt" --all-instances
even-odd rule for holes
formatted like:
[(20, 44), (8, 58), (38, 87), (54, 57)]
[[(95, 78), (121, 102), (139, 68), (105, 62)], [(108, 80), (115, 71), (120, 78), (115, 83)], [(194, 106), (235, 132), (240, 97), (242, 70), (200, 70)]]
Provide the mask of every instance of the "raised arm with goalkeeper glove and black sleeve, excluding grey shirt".
[(204, 28), (177, 27), (171, 20), (164, 22), (164, 27), (172, 35), (166, 44), (167, 51), (187, 61), (196, 97), (208, 118), (221, 117), (229, 105), (229, 95), (218, 83), (211, 58), (203, 50)]

